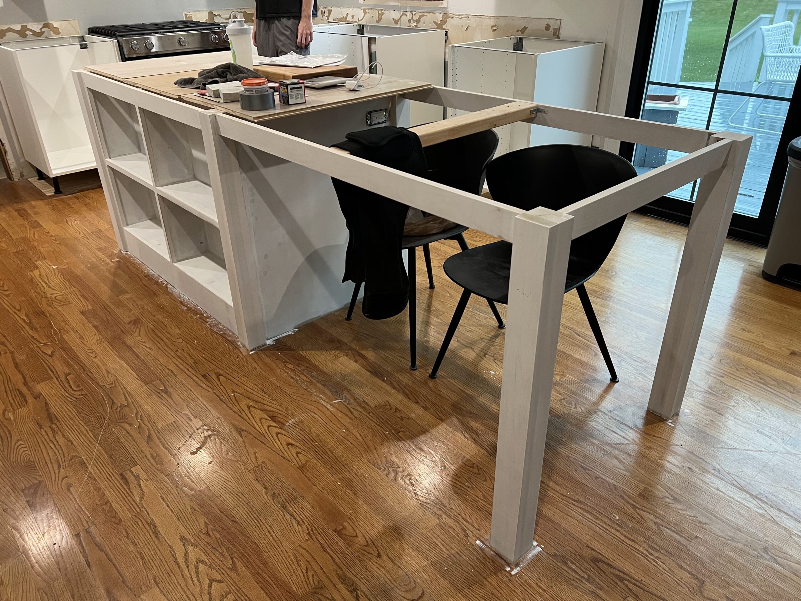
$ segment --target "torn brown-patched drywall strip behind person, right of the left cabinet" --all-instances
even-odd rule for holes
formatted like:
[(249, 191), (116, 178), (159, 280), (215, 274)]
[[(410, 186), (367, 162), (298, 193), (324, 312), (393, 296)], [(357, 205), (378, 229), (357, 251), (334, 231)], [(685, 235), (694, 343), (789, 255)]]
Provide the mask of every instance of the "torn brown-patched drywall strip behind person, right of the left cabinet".
[[(375, 2), (371, 2), (374, 4)], [(388, 0), (388, 3), (395, 3)], [(407, 2), (404, 2), (407, 4)], [(421, 0), (422, 6), (438, 6), (437, 2)], [(445, 6), (446, 2), (441, 2)], [(183, 14), (191, 21), (225, 23), (235, 13), (252, 23), (252, 8), (222, 10), (191, 10)], [(421, 27), (422, 29), (444, 29), (448, 31), (450, 44), (475, 42), (480, 39), (505, 38), (509, 35), (528, 35), (534, 38), (560, 38), (561, 18), (501, 17), (483, 14), (454, 14), (431, 10), (392, 10), (384, 8), (348, 8), (342, 6), (320, 6), (316, 22), (375, 23)]]

